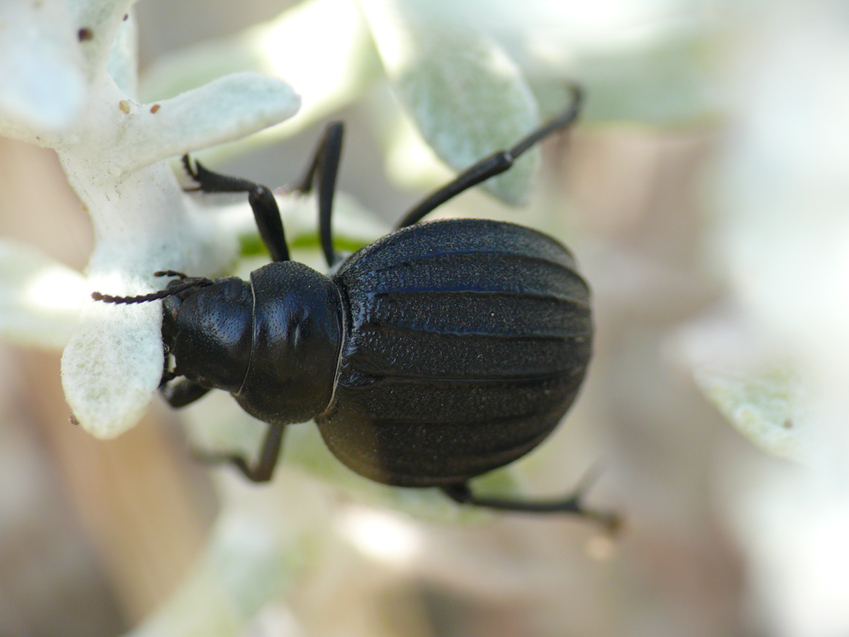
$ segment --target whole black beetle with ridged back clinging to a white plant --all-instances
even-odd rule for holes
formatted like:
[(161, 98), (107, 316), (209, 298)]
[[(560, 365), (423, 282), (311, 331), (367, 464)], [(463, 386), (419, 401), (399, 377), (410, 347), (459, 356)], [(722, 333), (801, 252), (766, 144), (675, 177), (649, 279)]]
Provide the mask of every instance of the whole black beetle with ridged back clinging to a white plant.
[[(163, 302), (166, 368), (160, 391), (175, 408), (211, 389), (230, 392), (268, 423), (259, 460), (232, 462), (271, 479), (285, 428), (315, 420), (330, 451), (356, 473), (398, 487), (438, 487), (461, 504), (571, 513), (611, 527), (612, 513), (556, 500), (476, 495), (469, 481), (527, 454), (571, 406), (592, 355), (590, 292), (555, 239), (485, 219), (422, 222), (441, 204), (500, 174), (576, 120), (568, 109), (509, 150), (495, 152), (425, 197), (397, 229), (346, 259), (331, 215), (344, 125), (330, 124), (304, 176), (317, 189), (326, 276), (292, 261), (265, 186), (194, 166), (205, 193), (246, 192), (272, 262), (250, 275), (207, 279), (175, 271), (159, 292), (109, 303)], [(169, 358), (173, 368), (169, 369)]]

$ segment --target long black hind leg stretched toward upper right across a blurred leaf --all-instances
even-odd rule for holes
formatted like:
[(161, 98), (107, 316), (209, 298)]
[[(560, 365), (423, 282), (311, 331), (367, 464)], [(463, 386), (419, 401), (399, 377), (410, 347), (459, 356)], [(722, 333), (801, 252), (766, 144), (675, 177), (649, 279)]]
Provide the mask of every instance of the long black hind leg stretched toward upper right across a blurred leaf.
[(577, 86), (572, 86), (570, 90), (572, 92), (572, 103), (569, 104), (566, 112), (533, 131), (513, 146), (513, 148), (496, 151), (464, 170), (453, 181), (448, 182), (436, 192), (431, 193), (419, 202), (418, 205), (410, 209), (398, 222), (397, 227), (406, 228), (421, 221), (425, 215), (430, 214), (449, 199), (453, 199), (469, 188), (477, 186), (479, 183), (509, 170), (513, 162), (522, 153), (549, 135), (567, 128), (574, 123), (581, 110), (581, 90)]

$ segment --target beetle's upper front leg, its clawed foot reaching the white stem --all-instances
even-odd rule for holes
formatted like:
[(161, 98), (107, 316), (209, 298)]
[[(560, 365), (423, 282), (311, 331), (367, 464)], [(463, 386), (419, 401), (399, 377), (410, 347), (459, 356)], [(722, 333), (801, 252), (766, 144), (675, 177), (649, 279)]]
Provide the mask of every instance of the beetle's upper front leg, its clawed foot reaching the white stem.
[(247, 179), (228, 177), (207, 170), (199, 161), (192, 168), (188, 155), (183, 155), (183, 166), (189, 177), (198, 185), (202, 192), (246, 192), (259, 235), (265, 247), (271, 253), (272, 261), (288, 261), (289, 248), (286, 247), (286, 235), (283, 232), (283, 220), (280, 209), (271, 191), (260, 184)]

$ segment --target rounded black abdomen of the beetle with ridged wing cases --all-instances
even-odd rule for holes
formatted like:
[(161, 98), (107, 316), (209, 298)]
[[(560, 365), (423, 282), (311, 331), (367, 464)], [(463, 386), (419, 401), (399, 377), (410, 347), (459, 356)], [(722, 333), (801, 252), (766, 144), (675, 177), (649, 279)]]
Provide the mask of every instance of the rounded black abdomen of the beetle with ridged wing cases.
[(554, 428), (592, 347), (589, 290), (554, 239), (455, 219), (395, 232), (334, 277), (347, 333), (330, 450), (398, 486), (462, 482)]

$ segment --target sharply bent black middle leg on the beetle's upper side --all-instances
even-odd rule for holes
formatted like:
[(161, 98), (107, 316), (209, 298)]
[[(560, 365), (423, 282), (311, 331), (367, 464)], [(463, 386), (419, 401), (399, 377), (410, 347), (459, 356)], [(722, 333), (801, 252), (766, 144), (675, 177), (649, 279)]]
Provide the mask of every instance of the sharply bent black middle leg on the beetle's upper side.
[(291, 187), (292, 191), (307, 194), (312, 191), (314, 183), (318, 184), (318, 232), (328, 267), (333, 267), (339, 260), (339, 255), (333, 249), (330, 221), (333, 215), (333, 195), (336, 192), (336, 175), (339, 173), (344, 136), (343, 122), (329, 124), (304, 176)]

